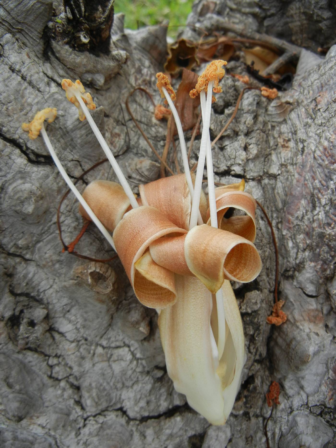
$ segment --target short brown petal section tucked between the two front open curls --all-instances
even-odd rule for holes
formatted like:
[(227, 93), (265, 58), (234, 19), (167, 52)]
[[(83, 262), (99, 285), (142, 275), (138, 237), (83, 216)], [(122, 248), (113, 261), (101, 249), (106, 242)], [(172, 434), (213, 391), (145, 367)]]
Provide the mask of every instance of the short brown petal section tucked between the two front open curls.
[(184, 256), (185, 235), (177, 237), (162, 237), (149, 246), (149, 251), (155, 263), (176, 274), (192, 276)]

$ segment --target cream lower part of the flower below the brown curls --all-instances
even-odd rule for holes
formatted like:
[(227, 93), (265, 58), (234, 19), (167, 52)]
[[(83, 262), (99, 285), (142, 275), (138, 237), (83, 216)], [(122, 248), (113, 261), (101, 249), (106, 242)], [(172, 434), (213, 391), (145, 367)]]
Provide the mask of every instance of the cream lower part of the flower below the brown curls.
[(168, 375), (192, 408), (213, 425), (223, 425), (235, 401), (245, 355), (236, 298), (225, 281), (226, 335), (224, 352), (218, 360), (216, 335), (211, 327), (217, 315), (211, 294), (197, 278), (185, 276), (176, 276), (176, 291), (177, 302), (159, 315)]

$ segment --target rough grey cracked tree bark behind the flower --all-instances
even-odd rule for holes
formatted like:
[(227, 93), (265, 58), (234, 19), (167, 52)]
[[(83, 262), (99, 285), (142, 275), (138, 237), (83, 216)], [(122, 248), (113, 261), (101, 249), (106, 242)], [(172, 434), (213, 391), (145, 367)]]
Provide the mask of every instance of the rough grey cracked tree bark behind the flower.
[[(329, 17), (334, 11), (325, 3)], [(250, 25), (250, 9), (238, 1), (199, 2), (190, 20), (204, 25), (200, 11), (209, 4), (217, 8), (211, 13), (231, 11)], [(301, 2), (288, 2), (288, 8), (296, 4)], [(251, 5), (252, 15), (261, 17), (254, 29), (267, 31), (258, 25), (264, 18), (261, 2)], [(267, 209), (280, 248), (280, 298), (288, 315), (280, 327), (266, 323), (275, 263), (269, 228), (258, 213), (256, 246), (263, 271), (252, 284), (234, 285), (246, 335), (241, 391), (226, 425), (215, 427), (174, 391), (155, 311), (136, 300), (120, 262), (87, 262), (61, 253), (56, 209), (65, 184), (42, 139), (29, 141), (21, 129), (37, 110), (57, 107), (58, 118), (47, 132), (69, 175), (76, 178), (102, 159), (87, 122), (79, 122), (60, 87), (62, 78), (80, 78), (90, 83), (99, 106), (95, 121), (134, 191), (138, 183), (154, 180), (159, 165), (130, 120), (125, 99), (141, 86), (159, 102), (155, 73), (165, 60), (166, 28), (124, 33), (122, 17), (116, 16), (111, 54), (98, 57), (43, 39), (51, 13), (49, 0), (0, 5), (0, 446), (266, 446), (265, 395), (276, 380), (280, 405), (268, 423), (270, 446), (334, 447), (336, 47), (275, 100), (257, 90), (246, 92), (213, 150), (215, 180), (244, 177), (248, 191)], [(204, 22), (211, 26), (212, 19), (206, 16)], [(325, 39), (321, 45), (330, 33)], [(239, 61), (228, 68), (244, 73)], [(228, 76), (221, 85), (212, 138), (231, 116), (243, 86)], [(151, 102), (137, 92), (130, 104), (161, 151), (166, 125), (155, 121)], [(193, 161), (199, 143), (200, 137)], [(115, 180), (107, 164), (85, 182), (94, 178)], [(67, 199), (61, 221), (70, 242), (81, 227), (73, 198)], [(97, 258), (113, 254), (93, 226), (77, 249)]]

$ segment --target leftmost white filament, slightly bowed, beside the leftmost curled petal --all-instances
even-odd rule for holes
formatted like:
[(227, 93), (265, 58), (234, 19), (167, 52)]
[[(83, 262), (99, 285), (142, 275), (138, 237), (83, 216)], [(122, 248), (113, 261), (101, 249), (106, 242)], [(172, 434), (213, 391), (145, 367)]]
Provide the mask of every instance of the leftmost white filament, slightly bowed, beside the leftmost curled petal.
[(49, 137), (47, 136), (47, 132), (44, 129), (44, 125), (42, 125), (41, 128), (41, 134), (43, 137), (43, 140), (48, 148), (48, 151), (50, 152), (50, 155), (52, 156), (52, 159), (55, 162), (56, 167), (58, 168), (60, 174), (64, 178), (65, 182), (69, 185), (69, 188), (72, 190), (73, 194), (76, 196), (78, 201), (82, 204), (83, 208), (87, 212), (87, 214), (90, 216), (90, 219), (95, 223), (95, 225), (99, 228), (100, 232), (103, 234), (103, 236), (108, 240), (108, 242), (111, 244), (112, 248), (116, 250), (116, 246), (114, 245), (113, 238), (108, 233), (106, 228), (103, 226), (103, 224), (99, 221), (97, 216), (94, 214), (94, 212), (91, 210), (85, 199), (82, 197), (82, 195), (79, 193), (75, 185), (73, 185), (73, 182), (65, 172), (65, 169), (63, 168), (63, 165), (60, 163), (60, 160), (58, 159), (54, 148), (52, 147), (52, 143), (49, 140)]

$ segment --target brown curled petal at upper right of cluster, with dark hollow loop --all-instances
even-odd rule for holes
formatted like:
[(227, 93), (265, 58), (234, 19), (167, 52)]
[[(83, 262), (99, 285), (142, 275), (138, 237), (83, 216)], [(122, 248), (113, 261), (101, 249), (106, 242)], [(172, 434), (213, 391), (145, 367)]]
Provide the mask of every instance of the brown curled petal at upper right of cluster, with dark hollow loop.
[[(233, 216), (232, 218), (225, 219), (224, 215), (229, 207), (245, 211), (248, 216)], [(250, 194), (245, 193), (244, 191), (224, 193), (216, 198), (216, 208), (218, 226), (222, 230), (240, 235), (251, 242), (254, 241), (256, 234), (256, 202)], [(210, 219), (207, 221), (207, 224), (209, 223)]]

